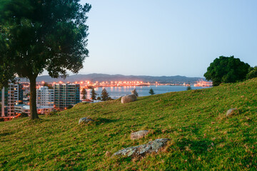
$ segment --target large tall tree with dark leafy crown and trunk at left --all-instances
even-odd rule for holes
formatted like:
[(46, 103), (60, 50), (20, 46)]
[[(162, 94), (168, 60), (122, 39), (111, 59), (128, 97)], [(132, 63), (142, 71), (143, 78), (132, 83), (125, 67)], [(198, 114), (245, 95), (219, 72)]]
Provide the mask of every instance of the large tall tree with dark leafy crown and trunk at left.
[(91, 5), (79, 0), (0, 0), (0, 87), (16, 76), (30, 81), (31, 119), (36, 112), (36, 78), (48, 71), (53, 78), (83, 68)]

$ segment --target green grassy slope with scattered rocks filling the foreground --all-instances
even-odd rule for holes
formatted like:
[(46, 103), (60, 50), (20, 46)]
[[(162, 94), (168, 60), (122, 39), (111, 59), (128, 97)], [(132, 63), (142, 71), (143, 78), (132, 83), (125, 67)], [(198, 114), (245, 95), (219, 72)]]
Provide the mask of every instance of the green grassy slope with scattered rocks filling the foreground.
[[(76, 105), (59, 115), (0, 123), (0, 170), (256, 170), (257, 79), (141, 97)], [(226, 110), (241, 112), (225, 118)], [(98, 120), (78, 125), (79, 118)], [(141, 140), (132, 131), (150, 129)], [(170, 138), (143, 159), (110, 157), (117, 150)]]

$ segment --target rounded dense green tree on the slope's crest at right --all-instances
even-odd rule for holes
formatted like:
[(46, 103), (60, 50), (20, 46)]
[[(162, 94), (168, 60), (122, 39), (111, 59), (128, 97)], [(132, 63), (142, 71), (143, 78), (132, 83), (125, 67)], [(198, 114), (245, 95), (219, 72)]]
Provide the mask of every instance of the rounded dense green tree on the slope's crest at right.
[(220, 56), (210, 64), (204, 77), (208, 81), (213, 81), (213, 86), (235, 83), (246, 79), (249, 68), (248, 63), (240, 61), (239, 58)]

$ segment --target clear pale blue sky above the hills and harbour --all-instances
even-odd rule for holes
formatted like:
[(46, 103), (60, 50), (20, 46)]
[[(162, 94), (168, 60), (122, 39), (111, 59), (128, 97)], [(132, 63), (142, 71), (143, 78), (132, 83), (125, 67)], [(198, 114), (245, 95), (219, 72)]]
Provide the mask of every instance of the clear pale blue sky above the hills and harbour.
[(256, 0), (83, 0), (89, 58), (79, 73), (203, 76), (218, 56), (257, 66)]

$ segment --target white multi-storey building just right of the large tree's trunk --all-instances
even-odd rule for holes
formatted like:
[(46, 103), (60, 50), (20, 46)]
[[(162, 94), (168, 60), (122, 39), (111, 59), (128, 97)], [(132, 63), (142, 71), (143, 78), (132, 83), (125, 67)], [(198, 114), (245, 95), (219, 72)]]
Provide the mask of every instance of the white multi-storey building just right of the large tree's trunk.
[(36, 90), (36, 106), (54, 106), (54, 89), (43, 86)]

